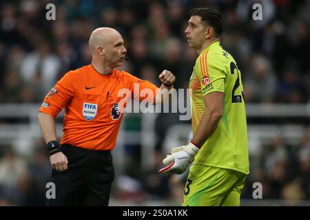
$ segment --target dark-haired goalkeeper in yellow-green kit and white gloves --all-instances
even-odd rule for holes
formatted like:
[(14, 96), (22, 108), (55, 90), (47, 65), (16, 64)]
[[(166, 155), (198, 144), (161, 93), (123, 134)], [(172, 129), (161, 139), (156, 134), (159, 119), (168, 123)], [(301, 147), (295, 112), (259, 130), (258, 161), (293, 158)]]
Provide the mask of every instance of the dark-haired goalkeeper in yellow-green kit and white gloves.
[(220, 46), (223, 19), (217, 10), (194, 8), (185, 30), (199, 54), (189, 89), (194, 137), (172, 148), (160, 173), (183, 173), (189, 164), (183, 206), (239, 206), (249, 175), (247, 121), (240, 70)]

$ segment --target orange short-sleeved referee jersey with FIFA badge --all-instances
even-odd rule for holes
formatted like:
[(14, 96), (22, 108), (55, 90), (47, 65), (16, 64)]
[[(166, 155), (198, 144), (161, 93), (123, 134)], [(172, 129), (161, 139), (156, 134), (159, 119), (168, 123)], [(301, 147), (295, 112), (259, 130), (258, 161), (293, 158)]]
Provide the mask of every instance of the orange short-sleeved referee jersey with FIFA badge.
[(123, 97), (118, 97), (118, 91), (127, 89), (134, 94), (134, 83), (139, 91), (148, 88), (156, 96), (156, 85), (146, 80), (116, 69), (110, 75), (99, 74), (87, 65), (65, 74), (45, 96), (39, 112), (56, 118), (65, 107), (61, 144), (111, 151), (123, 118), (118, 106)]

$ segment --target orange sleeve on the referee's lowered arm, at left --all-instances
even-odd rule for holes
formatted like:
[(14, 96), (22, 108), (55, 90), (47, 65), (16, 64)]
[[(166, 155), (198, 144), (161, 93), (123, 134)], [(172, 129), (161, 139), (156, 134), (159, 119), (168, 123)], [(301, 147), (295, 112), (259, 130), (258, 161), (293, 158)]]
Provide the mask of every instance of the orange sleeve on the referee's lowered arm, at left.
[(59, 80), (56, 85), (45, 96), (39, 112), (47, 113), (53, 118), (59, 114), (61, 109), (65, 107), (74, 96), (73, 80), (74, 72), (68, 72)]

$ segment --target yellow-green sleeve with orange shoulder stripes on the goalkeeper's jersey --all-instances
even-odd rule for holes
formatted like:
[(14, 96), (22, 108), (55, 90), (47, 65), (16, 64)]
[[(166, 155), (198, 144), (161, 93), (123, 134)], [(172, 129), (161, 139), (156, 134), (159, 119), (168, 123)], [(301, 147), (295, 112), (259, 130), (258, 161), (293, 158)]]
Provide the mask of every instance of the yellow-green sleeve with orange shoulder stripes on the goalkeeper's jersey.
[(196, 63), (196, 73), (200, 80), (203, 96), (214, 92), (225, 92), (225, 65), (216, 54), (208, 54), (209, 50), (200, 54)]

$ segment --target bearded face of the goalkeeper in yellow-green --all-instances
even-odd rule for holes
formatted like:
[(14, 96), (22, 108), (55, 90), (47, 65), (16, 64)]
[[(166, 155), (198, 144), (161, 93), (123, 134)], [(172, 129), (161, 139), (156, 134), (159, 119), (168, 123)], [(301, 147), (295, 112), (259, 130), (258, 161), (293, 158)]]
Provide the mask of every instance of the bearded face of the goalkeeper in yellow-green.
[(189, 19), (185, 34), (189, 47), (195, 50), (200, 50), (203, 47), (205, 43), (205, 25), (203, 25), (199, 16), (194, 15)]

